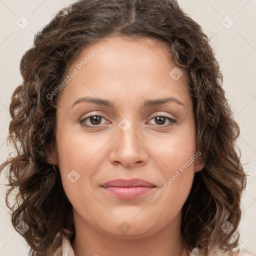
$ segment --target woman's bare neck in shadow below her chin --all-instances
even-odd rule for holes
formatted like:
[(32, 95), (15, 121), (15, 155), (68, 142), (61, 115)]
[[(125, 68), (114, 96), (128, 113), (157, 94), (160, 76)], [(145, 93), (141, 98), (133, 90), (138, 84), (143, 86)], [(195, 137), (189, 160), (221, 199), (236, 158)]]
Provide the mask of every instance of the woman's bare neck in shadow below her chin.
[(105, 234), (90, 226), (75, 212), (74, 220), (72, 247), (75, 256), (189, 256), (180, 233), (181, 212), (171, 223), (150, 236), (134, 234), (119, 237), (117, 234)]

